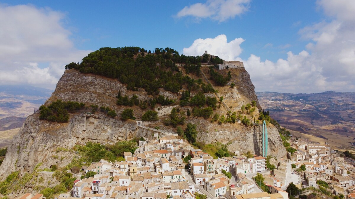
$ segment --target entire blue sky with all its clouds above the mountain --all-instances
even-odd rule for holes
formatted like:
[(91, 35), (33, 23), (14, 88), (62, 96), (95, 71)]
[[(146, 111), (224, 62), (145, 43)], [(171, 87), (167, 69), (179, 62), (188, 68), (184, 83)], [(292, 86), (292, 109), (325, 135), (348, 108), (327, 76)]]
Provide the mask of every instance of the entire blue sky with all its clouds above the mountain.
[[(0, 20), (8, 30), (0, 36), (9, 38), (0, 52), (10, 54), (0, 62), (0, 84), (53, 89), (63, 65), (100, 47), (171, 47), (202, 55), (201, 45), (207, 45), (206, 50), (226, 60), (244, 61), (256, 91), (353, 91), (355, 45), (348, 42), (354, 31), (348, 28), (354, 25), (353, 2), (2, 1), (0, 15), (11, 20)], [(27, 29), (20, 28), (25, 22)], [(326, 50), (330, 46), (336, 46), (334, 52)], [(334, 71), (334, 65), (341, 70)]]

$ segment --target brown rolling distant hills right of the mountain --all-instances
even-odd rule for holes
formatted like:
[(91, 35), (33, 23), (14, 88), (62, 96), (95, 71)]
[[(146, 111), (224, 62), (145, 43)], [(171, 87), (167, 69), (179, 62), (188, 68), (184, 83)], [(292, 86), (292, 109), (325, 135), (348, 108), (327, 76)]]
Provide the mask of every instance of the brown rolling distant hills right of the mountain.
[(351, 149), (355, 139), (355, 92), (257, 92), (256, 95), (264, 110), (269, 110), (294, 135), (330, 141), (338, 149)]

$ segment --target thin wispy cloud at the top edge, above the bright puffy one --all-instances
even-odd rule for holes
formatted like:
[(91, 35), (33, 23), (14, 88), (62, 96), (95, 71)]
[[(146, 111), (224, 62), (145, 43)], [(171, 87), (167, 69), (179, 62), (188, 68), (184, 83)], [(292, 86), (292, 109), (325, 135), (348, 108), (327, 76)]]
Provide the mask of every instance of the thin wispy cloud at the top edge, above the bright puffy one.
[(208, 0), (206, 3), (196, 3), (185, 6), (178, 12), (176, 17), (195, 17), (197, 21), (201, 18), (211, 18), (223, 22), (229, 18), (248, 11), (250, 0)]

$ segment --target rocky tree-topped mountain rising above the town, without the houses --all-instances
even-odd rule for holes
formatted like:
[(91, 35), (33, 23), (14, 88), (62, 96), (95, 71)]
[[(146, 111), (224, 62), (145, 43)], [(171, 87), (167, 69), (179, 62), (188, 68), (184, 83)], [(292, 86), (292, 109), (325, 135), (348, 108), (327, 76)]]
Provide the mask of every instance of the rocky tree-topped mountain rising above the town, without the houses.
[[(213, 59), (205, 66), (201, 61), (200, 56), (180, 56), (169, 48), (147, 52), (124, 47), (102, 48), (80, 64), (68, 64), (50, 98), (13, 138), (0, 175), (4, 179), (13, 171), (24, 175), (38, 168), (64, 167), (77, 160), (77, 144), (150, 140), (154, 134), (185, 130), (189, 123), (196, 125), (196, 137), (179, 133), (190, 143), (220, 142), (231, 152), (259, 154), (250, 123), (258, 121), (261, 107), (249, 74), (242, 67), (218, 70)], [(249, 110), (244, 109), (247, 104)], [(268, 133), (269, 154), (285, 156), (271, 123)]]

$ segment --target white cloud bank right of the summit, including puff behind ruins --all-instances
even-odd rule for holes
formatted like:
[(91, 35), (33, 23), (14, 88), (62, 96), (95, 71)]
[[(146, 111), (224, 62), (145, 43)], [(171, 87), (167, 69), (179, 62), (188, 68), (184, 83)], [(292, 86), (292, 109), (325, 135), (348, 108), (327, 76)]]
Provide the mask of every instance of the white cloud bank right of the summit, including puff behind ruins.
[[(310, 41), (300, 53), (287, 52), (277, 62), (251, 55), (242, 60), (256, 91), (311, 93), (355, 90), (355, 1), (317, 1), (330, 21), (321, 21), (299, 30), (302, 39)], [(217, 40), (220, 40), (217, 42)], [(189, 55), (202, 55), (203, 49), (225, 60), (240, 60), (240, 44), (226, 42), (225, 35), (214, 39), (197, 39), (184, 49)], [(268, 44), (265, 45), (269, 46)], [(289, 44), (280, 46), (290, 47)], [(207, 49), (208, 48), (208, 49)], [(228, 48), (228, 50), (226, 50)], [(229, 54), (228, 54), (229, 52)]]

